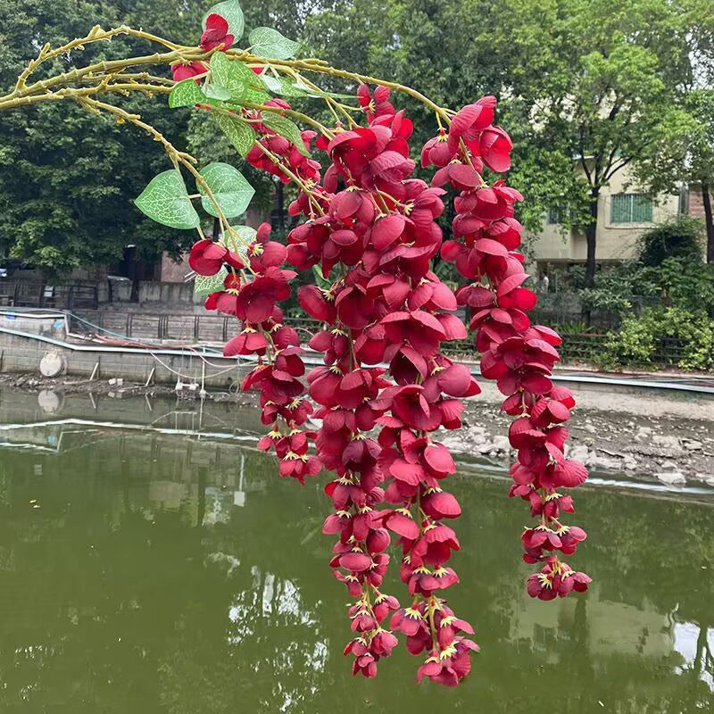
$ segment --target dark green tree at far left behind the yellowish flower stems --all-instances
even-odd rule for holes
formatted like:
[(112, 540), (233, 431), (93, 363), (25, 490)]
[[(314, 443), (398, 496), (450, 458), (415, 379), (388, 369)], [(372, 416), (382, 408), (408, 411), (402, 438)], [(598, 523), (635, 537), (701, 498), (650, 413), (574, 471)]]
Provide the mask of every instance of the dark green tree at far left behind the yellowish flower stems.
[[(97, 22), (140, 21), (146, 29), (163, 28), (187, 41), (181, 5), (169, 0), (7, 0), (0, 7), (0, 87), (12, 88), (22, 66), (37, 54), (38, 37), (61, 45)], [(195, 27), (198, 8), (189, 14)], [(147, 43), (138, 49), (153, 51)], [(132, 50), (137, 51), (136, 43)], [(48, 63), (46, 71), (128, 53), (128, 42), (115, 38)], [(155, 98), (127, 97), (122, 106), (181, 140), (184, 129), (167, 119)], [(185, 235), (156, 226), (131, 203), (162, 165), (149, 137), (109, 118), (97, 121), (79, 106), (46, 104), (8, 112), (0, 126), (0, 145), (0, 253), (62, 273), (116, 262), (128, 244), (137, 245), (145, 257), (163, 250), (178, 254), (187, 247)]]

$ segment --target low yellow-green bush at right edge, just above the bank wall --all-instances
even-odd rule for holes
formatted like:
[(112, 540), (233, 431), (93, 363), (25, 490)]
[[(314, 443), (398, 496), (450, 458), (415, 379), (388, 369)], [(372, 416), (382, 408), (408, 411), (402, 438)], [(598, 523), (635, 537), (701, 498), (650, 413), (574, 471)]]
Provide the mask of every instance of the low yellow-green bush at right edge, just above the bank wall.
[(597, 361), (604, 367), (651, 367), (661, 362), (658, 349), (663, 338), (681, 343), (681, 369), (714, 369), (714, 320), (703, 311), (681, 307), (647, 308), (637, 317), (623, 320), (617, 332), (610, 332)]

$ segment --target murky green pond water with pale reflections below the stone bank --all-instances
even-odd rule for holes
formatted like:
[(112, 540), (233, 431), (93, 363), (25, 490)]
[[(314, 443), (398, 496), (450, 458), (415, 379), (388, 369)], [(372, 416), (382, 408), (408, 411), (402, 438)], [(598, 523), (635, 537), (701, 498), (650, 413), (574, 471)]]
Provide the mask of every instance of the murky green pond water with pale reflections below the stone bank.
[(456, 690), (417, 686), (403, 647), (368, 681), (342, 655), (348, 598), (320, 533), (323, 477), (279, 480), (242, 438), (254, 412), (217, 408), (208, 429), (199, 414), (199, 432), (193, 407), (82, 399), (0, 412), (12, 421), (0, 427), (4, 714), (714, 710), (707, 494), (580, 489), (590, 539), (573, 564), (594, 586), (534, 602), (525, 505), (497, 472), (463, 465), (451, 602), (482, 652)]

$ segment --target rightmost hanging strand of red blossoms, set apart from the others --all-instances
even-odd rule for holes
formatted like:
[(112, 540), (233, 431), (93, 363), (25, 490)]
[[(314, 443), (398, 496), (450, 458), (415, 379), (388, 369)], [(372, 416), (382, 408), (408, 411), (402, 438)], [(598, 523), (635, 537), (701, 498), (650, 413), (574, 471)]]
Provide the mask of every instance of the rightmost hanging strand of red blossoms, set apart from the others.
[(511, 446), (518, 452), (510, 495), (529, 502), (537, 519), (522, 535), (523, 559), (544, 564), (528, 578), (527, 591), (552, 600), (572, 590), (585, 591), (591, 581), (556, 555), (572, 555), (585, 539), (582, 528), (560, 522), (560, 511), (573, 512), (573, 505), (559, 489), (580, 486), (587, 471), (564, 453), (568, 429), (562, 424), (575, 400), (569, 389), (552, 384), (560, 336), (532, 325), (527, 317), (536, 298), (523, 286), (528, 276), (524, 257), (516, 252), (521, 226), (513, 217), (522, 196), (501, 180), (489, 186), (481, 176), (484, 166), (494, 171), (511, 166), (511, 140), (492, 126), (494, 106), (494, 97), (485, 97), (463, 107), (453, 117), (448, 136), (442, 133), (425, 145), (422, 164), (439, 167), (434, 185), (448, 184), (459, 191), (454, 239), (444, 243), (442, 256), (471, 281), (457, 298), (473, 312), (469, 327), (482, 354), (481, 374), (496, 381), (506, 396), (502, 410), (517, 417), (509, 430)]

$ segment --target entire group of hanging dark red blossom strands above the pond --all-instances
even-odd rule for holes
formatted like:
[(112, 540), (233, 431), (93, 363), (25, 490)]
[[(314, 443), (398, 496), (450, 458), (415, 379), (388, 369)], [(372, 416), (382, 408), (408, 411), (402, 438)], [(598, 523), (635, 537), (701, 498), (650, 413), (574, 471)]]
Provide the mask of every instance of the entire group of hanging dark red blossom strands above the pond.
[[(262, 420), (271, 426), (260, 448), (276, 453), (281, 476), (303, 482), (320, 468), (335, 475), (325, 488), (334, 512), (323, 531), (337, 536), (330, 566), (354, 598), (354, 638), (345, 648), (354, 673), (376, 676), (378, 660), (394, 649), (397, 638), (384, 627), (391, 615), (390, 629), (424, 657), (419, 681), (457, 685), (478, 646), (469, 639), (472, 627), (444, 599), (459, 582), (451, 558), (460, 549), (445, 521), (459, 517), (461, 506), (444, 490), (455, 467), (436, 432), (460, 428), (462, 400), (479, 392), (469, 369), (442, 353), (444, 342), (467, 336), (454, 314), (459, 304), (473, 312), (484, 377), (497, 380), (507, 397), (504, 411), (519, 417), (510, 433), (519, 454), (511, 495), (527, 500), (539, 519), (523, 535), (526, 560), (544, 564), (528, 581), (533, 596), (550, 599), (587, 587), (585, 574), (554, 555), (575, 552), (585, 538), (560, 523), (560, 511), (572, 511), (572, 502), (558, 489), (577, 486), (586, 474), (563, 452), (568, 432), (561, 423), (574, 403), (550, 379), (559, 339), (531, 326), (526, 314), (535, 296), (522, 286), (527, 274), (515, 252), (520, 226), (513, 207), (520, 195), (502, 181), (487, 186), (481, 176), (484, 166), (510, 166), (511, 141), (493, 126), (494, 99), (464, 107), (448, 133), (424, 146), (423, 165), (437, 167), (428, 186), (411, 178), (411, 121), (394, 111), (388, 90), (371, 95), (363, 86), (358, 97), (368, 125), (338, 126), (316, 142), (328, 156), (324, 175), (258, 117), (260, 145), (248, 161), (282, 180), (295, 177), (300, 188), (290, 212), (305, 220), (287, 246), (271, 241), (263, 225), (247, 261), (229, 245), (202, 240), (190, 263), (201, 275), (228, 268), (206, 307), (242, 321), (225, 353), (257, 358), (244, 388), (260, 390)], [(272, 105), (288, 108), (280, 100)], [(314, 136), (303, 133), (306, 147)], [(454, 240), (444, 243), (436, 220), (444, 212), (445, 185), (460, 193)], [(437, 253), (471, 281), (456, 295), (430, 270)], [(303, 348), (278, 307), (296, 275), (284, 262), (297, 270), (319, 265), (330, 283), (298, 290), (303, 309), (324, 325), (309, 344), (323, 366), (311, 369), (306, 386)], [(308, 418), (320, 423), (316, 432), (305, 429)], [(408, 607), (380, 590), (393, 538), (402, 551)]]

